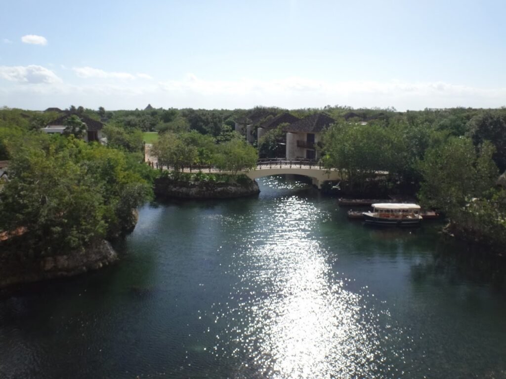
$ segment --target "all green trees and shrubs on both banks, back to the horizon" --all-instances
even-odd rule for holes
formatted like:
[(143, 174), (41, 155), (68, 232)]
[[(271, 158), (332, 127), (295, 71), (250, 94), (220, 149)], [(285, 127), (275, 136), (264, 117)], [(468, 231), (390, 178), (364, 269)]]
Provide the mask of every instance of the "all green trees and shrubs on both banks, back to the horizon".
[[(443, 213), (447, 231), (459, 238), (491, 246), (506, 242), (506, 190), (496, 184), (506, 169), (505, 109), (95, 111), (71, 106), (0, 110), (0, 160), (9, 162), (0, 180), (2, 255), (85, 251), (117, 238), (132, 230), (135, 209), (152, 197), (153, 188), (158, 195), (179, 191), (189, 198), (213, 197), (208, 195), (213, 188), (217, 197), (227, 191), (240, 196), (241, 186), (248, 188), (243, 195), (258, 193), (258, 186), (236, 174), (254, 168), (259, 154), (284, 158), (288, 124), (260, 138), (257, 128), (283, 113), (300, 119), (317, 112), (335, 120), (314, 148), (321, 164), (340, 171), (343, 194), (415, 197)], [(41, 132), (62, 113), (68, 117), (61, 135)], [(83, 140), (82, 120), (102, 123), (102, 143)], [(237, 124), (248, 125), (249, 137), (257, 139), (248, 143)], [(158, 168), (171, 172), (144, 163), (146, 132), (157, 135), (151, 154)], [(191, 174), (184, 172), (187, 166), (193, 167)], [(209, 166), (231, 175), (204, 173)]]

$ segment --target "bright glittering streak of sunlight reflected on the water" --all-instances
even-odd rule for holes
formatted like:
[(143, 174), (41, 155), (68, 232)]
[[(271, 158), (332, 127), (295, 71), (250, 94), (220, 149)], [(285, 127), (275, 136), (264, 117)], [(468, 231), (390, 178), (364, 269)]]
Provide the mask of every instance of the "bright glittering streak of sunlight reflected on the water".
[(229, 269), (239, 282), (230, 302), (210, 310), (223, 325), (214, 354), (242, 362), (236, 377), (390, 376), (384, 340), (395, 343), (401, 332), (382, 332), (379, 325), (391, 323), (388, 311), (375, 310), (366, 289), (352, 292), (349, 279), (332, 272), (315, 230), (315, 220), (326, 217), (289, 196), (241, 220), (256, 226)]

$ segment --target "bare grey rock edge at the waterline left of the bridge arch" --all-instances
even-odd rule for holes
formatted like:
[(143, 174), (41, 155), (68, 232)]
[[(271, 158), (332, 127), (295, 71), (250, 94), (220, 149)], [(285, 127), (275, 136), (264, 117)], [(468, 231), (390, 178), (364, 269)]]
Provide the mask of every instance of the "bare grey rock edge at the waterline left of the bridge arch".
[(159, 198), (179, 199), (232, 199), (258, 195), (255, 180), (231, 182), (178, 181), (167, 177), (155, 180), (154, 193)]

